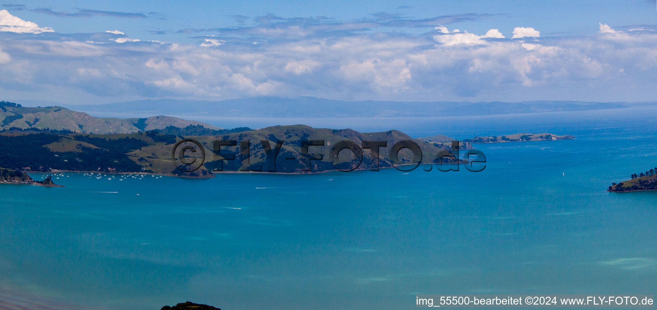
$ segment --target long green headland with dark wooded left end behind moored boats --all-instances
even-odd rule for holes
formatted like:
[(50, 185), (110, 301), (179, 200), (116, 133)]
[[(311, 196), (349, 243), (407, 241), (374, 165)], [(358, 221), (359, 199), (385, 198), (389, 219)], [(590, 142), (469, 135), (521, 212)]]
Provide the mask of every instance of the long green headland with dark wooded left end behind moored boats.
[[(168, 135), (160, 131), (124, 134), (55, 134), (30, 133), (14, 131), (0, 133), (0, 166), (11, 169), (32, 171), (74, 170), (103, 172), (148, 172), (185, 175), (191, 177), (211, 177), (212, 169), (223, 171), (258, 170), (284, 173), (310, 173), (332, 171), (330, 149), (349, 140), (361, 146), (363, 140), (386, 141), (380, 148), (380, 167), (392, 167), (388, 152), (397, 141), (410, 140), (417, 143), (422, 150), (422, 162), (439, 162), (439, 156), (445, 156), (443, 162), (456, 162), (451, 156), (450, 148), (443, 144), (432, 144), (412, 139), (405, 133), (390, 130), (379, 133), (359, 133), (352, 129), (315, 129), (306, 125), (274, 126), (256, 131), (242, 131), (225, 135), (198, 135), (186, 138), (198, 141), (206, 153), (205, 164), (200, 169), (183, 173), (176, 169), (176, 162), (171, 152), (182, 136)], [(219, 160), (214, 151), (213, 141), (237, 140), (236, 146), (221, 148), (221, 154), (235, 154), (235, 160)], [(280, 150), (278, 156), (267, 156), (262, 140), (269, 141), (269, 146)], [(309, 146), (308, 152), (302, 151), (302, 140), (323, 140), (323, 146)], [(250, 141), (250, 156), (242, 156), (239, 141)], [(312, 154), (323, 154), (322, 160), (309, 160)], [(413, 153), (404, 148), (399, 151), (396, 164), (411, 164)], [(334, 158), (337, 167), (350, 169), (352, 162), (349, 150), (342, 150)], [(312, 164), (309, 164), (312, 162)], [(369, 149), (363, 150), (362, 164), (358, 169), (376, 168), (376, 158)]]

